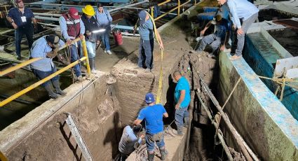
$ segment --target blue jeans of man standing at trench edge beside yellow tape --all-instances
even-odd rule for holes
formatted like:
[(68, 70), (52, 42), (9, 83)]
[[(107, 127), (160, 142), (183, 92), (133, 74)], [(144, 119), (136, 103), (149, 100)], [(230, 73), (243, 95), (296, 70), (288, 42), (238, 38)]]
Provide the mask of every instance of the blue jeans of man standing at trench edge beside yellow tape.
[(146, 66), (149, 69), (153, 69), (153, 50), (154, 50), (154, 39), (149, 41), (140, 40), (139, 46), (139, 61), (138, 66), (141, 68)]

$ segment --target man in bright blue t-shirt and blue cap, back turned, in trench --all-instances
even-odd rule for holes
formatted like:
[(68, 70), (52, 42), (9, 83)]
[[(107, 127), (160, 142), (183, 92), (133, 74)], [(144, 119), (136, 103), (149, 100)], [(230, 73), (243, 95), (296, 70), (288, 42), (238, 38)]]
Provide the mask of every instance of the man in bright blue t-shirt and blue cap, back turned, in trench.
[(157, 144), (161, 152), (161, 160), (165, 160), (165, 142), (163, 141), (163, 117), (168, 118), (168, 113), (161, 104), (155, 104), (154, 95), (147, 93), (145, 97), (147, 107), (140, 111), (137, 120), (133, 122), (134, 125), (140, 125), (142, 120), (145, 121), (146, 126), (146, 144), (148, 160), (154, 160), (154, 147)]

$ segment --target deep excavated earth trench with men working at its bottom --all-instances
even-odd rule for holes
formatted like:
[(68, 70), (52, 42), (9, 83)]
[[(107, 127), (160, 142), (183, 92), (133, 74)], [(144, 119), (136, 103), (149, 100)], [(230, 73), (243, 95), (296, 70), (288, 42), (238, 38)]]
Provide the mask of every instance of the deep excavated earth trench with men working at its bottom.
[[(172, 122), (174, 114), (173, 71), (181, 71), (189, 80), (191, 90), (194, 90), (200, 88), (194, 73), (196, 66), (205, 82), (216, 93), (217, 60), (205, 54), (191, 55), (190, 51), (182, 48), (179, 55), (169, 55), (169, 59), (164, 62), (169, 65), (163, 69), (165, 79), (161, 100), (170, 114), (170, 118), (164, 120), (165, 125)], [(153, 73), (136, 70), (134, 59), (133, 56), (123, 58), (111, 73), (98, 73), (92, 80), (70, 85), (66, 89), (67, 96), (50, 99), (6, 127), (1, 131), (1, 151), (9, 160), (81, 160), (81, 150), (65, 123), (66, 113), (71, 113), (93, 159), (116, 159), (123, 127), (131, 124), (145, 105), (144, 94), (156, 93), (158, 87), (158, 70)], [(203, 99), (209, 104), (207, 97)], [(194, 97), (194, 91), (190, 113), (193, 118), (191, 129), (184, 129), (184, 137), (165, 133), (168, 160), (226, 159), (222, 155), (222, 147), (215, 146), (215, 130)], [(175, 123), (172, 125), (170, 129), (175, 128)], [(143, 151), (130, 155), (128, 160), (142, 160), (146, 155), (146, 148), (143, 148)]]

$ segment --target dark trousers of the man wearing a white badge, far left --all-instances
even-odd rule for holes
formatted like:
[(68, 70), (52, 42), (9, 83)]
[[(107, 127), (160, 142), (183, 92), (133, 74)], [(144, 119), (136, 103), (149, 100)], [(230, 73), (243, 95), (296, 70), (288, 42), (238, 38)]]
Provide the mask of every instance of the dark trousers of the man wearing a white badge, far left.
[(18, 57), (21, 56), (21, 41), (24, 34), (28, 41), (29, 50), (31, 49), (33, 43), (33, 31), (33, 27), (19, 27), (18, 29), (15, 29), (15, 52)]

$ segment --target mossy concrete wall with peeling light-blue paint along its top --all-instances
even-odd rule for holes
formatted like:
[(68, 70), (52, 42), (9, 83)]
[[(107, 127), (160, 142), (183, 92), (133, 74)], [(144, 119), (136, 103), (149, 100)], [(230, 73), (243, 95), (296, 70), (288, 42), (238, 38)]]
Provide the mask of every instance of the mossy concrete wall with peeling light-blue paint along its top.
[(243, 58), (229, 57), (219, 56), (219, 95), (223, 104), (242, 78), (225, 108), (233, 125), (262, 160), (298, 160), (298, 121)]

